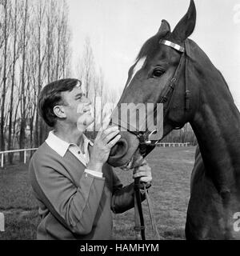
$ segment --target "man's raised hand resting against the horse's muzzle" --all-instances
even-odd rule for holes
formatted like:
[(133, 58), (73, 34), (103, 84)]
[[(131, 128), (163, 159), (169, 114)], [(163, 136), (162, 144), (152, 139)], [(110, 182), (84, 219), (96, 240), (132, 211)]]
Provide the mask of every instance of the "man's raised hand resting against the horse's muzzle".
[(102, 171), (102, 166), (107, 161), (111, 148), (121, 138), (119, 132), (118, 126), (112, 126), (109, 128), (102, 127), (99, 130), (98, 135), (94, 140), (93, 150), (90, 155), (90, 162), (86, 166), (87, 169), (100, 172)]

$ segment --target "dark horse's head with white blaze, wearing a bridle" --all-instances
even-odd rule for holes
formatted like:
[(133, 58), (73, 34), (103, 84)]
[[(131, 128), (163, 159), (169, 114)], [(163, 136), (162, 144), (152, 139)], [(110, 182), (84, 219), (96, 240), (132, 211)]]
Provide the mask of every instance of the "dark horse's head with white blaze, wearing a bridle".
[[(178, 22), (173, 32), (170, 31), (169, 23), (162, 20), (158, 33), (145, 42), (134, 66), (130, 67), (126, 87), (118, 102), (118, 109), (122, 103), (134, 103), (134, 106), (139, 103), (144, 106), (151, 103), (155, 110), (157, 104), (162, 103), (161, 138), (171, 130), (189, 122), (192, 114), (192, 110), (186, 110), (189, 102), (184, 72), (186, 65), (184, 48), (186, 38), (194, 30), (195, 22), (196, 9), (193, 0), (190, 1), (186, 15)], [(154, 119), (157, 116), (154, 114)], [(122, 126), (119, 123), (117, 125)], [(149, 144), (149, 140), (146, 143), (146, 135), (150, 134), (147, 123), (146, 130), (143, 131), (130, 132), (127, 125), (124, 128), (126, 131), (121, 132), (122, 138), (112, 148), (108, 162), (112, 166), (124, 166), (131, 162), (133, 167), (133, 163), (142, 158), (141, 147), (144, 157), (154, 149), (154, 144)]]

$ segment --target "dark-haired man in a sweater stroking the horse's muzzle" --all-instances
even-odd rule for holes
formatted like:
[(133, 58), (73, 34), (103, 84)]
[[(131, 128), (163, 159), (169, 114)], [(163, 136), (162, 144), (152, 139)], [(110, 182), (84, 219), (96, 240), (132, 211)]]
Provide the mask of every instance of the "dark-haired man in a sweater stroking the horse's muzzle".
[[(106, 161), (121, 137), (118, 127), (102, 127), (92, 143), (83, 132), (93, 122), (90, 100), (77, 79), (42, 89), (38, 109), (54, 130), (30, 161), (30, 182), (42, 221), (37, 239), (110, 239), (112, 214), (134, 206), (134, 186), (122, 187)], [(151, 182), (146, 162), (134, 177)], [(144, 196), (142, 196), (142, 200)]]

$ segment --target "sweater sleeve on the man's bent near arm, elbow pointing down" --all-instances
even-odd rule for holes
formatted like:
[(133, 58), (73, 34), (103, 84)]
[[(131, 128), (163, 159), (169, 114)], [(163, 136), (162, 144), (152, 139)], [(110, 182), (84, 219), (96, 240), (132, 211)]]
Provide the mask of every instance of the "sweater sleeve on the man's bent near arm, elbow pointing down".
[(102, 198), (105, 178), (82, 174), (78, 186), (42, 163), (30, 161), (30, 182), (38, 199), (74, 234), (89, 234)]

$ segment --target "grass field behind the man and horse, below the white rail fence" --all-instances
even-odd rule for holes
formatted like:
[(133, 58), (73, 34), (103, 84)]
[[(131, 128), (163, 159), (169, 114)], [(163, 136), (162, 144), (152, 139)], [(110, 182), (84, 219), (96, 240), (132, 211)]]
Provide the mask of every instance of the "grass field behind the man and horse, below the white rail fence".
[[(184, 239), (186, 209), (190, 195), (190, 173), (194, 166), (194, 147), (156, 148), (146, 159), (152, 167), (149, 194), (162, 239)], [(116, 169), (124, 185), (132, 182), (131, 173)], [(146, 238), (153, 238), (146, 202)], [(5, 215), (5, 232), (0, 240), (35, 239), (40, 221), (31, 194), (27, 165), (0, 169), (0, 212)], [(114, 215), (114, 239), (134, 239), (134, 210)]]

